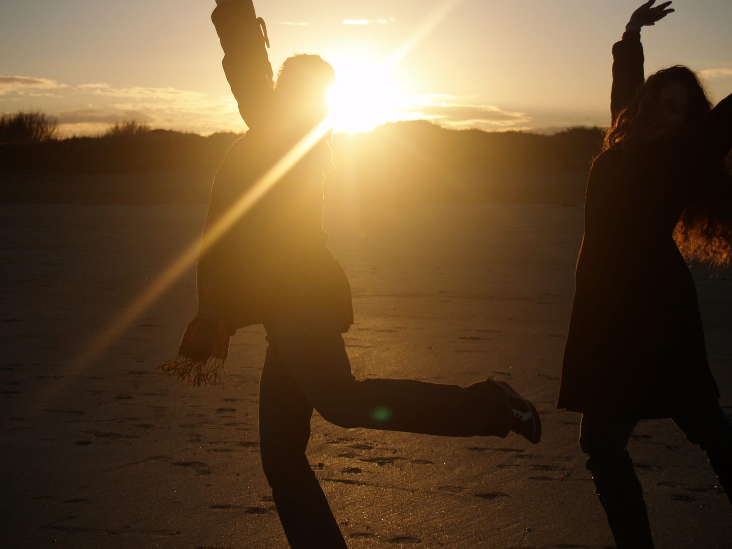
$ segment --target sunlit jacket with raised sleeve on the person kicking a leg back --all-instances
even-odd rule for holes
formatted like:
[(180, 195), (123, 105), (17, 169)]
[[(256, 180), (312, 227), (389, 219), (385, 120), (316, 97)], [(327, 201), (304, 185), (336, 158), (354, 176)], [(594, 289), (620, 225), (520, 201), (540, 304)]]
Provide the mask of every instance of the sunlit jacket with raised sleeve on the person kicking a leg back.
[(214, 178), (204, 243), (232, 208), (239, 212), (210, 247), (204, 244), (199, 307), (223, 316), (235, 329), (263, 323), (286, 307), (315, 305), (332, 310), (346, 332), (353, 323), (351, 289), (326, 247), (322, 226), (324, 173), (332, 169), (330, 136), (292, 157), (310, 127), (277, 110), (253, 7), (225, 2), (212, 20), (226, 78), (250, 130), (231, 146)]

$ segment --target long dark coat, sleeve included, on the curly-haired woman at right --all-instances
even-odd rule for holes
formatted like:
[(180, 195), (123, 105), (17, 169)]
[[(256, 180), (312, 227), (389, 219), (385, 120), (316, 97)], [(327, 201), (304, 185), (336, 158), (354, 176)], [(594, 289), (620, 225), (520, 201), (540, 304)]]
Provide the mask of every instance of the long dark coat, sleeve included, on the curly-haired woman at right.
[[(613, 122), (642, 84), (639, 34), (626, 33), (613, 46)], [(594, 161), (559, 408), (671, 417), (719, 396), (673, 229), (703, 192), (707, 168), (729, 151), (731, 114), (728, 97), (698, 132), (609, 149)]]

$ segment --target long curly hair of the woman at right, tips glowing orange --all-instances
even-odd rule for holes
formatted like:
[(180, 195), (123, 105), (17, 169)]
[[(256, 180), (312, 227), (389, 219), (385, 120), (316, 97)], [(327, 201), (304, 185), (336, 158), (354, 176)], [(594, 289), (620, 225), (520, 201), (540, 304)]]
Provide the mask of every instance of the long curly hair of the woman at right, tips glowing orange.
[[(712, 104), (699, 78), (688, 67), (676, 65), (649, 76), (632, 101), (618, 114), (605, 134), (602, 150), (628, 149), (641, 140), (641, 129), (651, 114), (660, 91), (671, 82), (687, 90), (687, 118), (681, 132), (693, 132), (706, 121)], [(703, 167), (698, 193), (679, 218), (673, 239), (684, 259), (722, 268), (732, 262), (732, 156), (727, 166)]]

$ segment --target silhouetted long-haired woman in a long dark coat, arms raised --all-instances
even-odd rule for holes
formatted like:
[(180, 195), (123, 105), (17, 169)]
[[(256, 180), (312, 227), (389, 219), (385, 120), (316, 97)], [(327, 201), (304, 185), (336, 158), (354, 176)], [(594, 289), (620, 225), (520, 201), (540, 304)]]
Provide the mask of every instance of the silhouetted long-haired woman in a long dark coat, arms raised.
[(643, 82), (641, 27), (673, 11), (653, 4), (633, 12), (613, 45), (613, 124), (587, 184), (558, 402), (583, 414), (580, 448), (619, 547), (653, 546), (626, 450), (639, 419), (673, 418), (732, 491), (732, 424), (687, 267), (730, 261), (732, 96), (710, 109), (681, 66)]

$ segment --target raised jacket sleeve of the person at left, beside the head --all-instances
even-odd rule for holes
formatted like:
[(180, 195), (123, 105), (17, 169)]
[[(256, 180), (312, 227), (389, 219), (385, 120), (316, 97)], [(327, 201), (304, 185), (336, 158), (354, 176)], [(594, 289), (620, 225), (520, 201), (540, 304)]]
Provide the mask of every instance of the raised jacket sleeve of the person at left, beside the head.
[(273, 99), (264, 21), (256, 18), (251, 1), (222, 2), (211, 20), (221, 41), (222, 64), (239, 113), (248, 127), (261, 127), (269, 119)]

